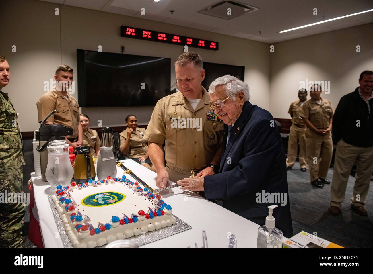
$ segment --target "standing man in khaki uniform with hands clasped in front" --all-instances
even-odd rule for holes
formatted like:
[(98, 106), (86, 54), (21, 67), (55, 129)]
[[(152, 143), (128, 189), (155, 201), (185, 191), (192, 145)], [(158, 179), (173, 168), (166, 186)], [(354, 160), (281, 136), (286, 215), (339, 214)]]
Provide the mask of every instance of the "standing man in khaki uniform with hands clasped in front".
[(333, 155), (330, 130), (334, 110), (329, 100), (320, 97), (321, 92), (321, 86), (311, 86), (311, 99), (303, 104), (300, 114), (307, 125), (305, 136), (311, 184), (317, 188), (330, 184), (326, 175)]

